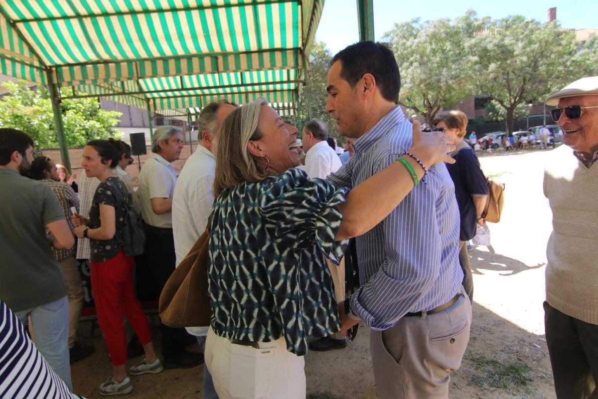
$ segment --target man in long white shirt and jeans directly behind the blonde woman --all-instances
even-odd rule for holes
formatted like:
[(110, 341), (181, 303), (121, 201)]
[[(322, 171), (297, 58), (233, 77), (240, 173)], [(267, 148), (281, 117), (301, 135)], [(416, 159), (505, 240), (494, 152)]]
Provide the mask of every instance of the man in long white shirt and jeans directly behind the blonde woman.
[[(200, 145), (189, 157), (175, 185), (172, 200), (173, 233), (175, 235), (176, 264), (187, 256), (208, 225), (214, 196), (212, 185), (216, 170), (216, 140), (222, 121), (237, 109), (226, 100), (206, 105), (197, 119), (197, 139)], [(208, 327), (188, 327), (204, 348)], [(208, 367), (203, 368), (203, 399), (217, 399)]]

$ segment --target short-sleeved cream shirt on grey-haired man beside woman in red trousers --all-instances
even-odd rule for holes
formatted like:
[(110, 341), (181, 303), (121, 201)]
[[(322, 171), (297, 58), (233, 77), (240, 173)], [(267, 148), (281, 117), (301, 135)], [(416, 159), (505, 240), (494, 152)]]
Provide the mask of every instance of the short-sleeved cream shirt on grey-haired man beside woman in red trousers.
[(156, 215), (151, 206), (152, 198), (172, 198), (175, 191), (176, 169), (172, 163), (159, 154), (149, 154), (148, 160), (139, 172), (139, 197), (141, 197), (141, 213), (149, 226), (170, 229), (172, 212)]

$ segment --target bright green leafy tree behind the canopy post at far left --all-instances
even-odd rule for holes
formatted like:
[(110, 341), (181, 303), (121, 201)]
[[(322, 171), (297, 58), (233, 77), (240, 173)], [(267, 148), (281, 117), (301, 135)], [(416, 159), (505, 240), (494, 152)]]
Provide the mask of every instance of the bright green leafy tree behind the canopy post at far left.
[[(0, 99), (0, 127), (22, 130), (37, 148), (59, 147), (50, 95), (44, 86), (29, 89), (24, 81), (2, 84), (10, 95)], [(97, 99), (65, 99), (60, 103), (67, 147), (83, 147), (93, 139), (118, 137), (120, 112), (100, 109)]]

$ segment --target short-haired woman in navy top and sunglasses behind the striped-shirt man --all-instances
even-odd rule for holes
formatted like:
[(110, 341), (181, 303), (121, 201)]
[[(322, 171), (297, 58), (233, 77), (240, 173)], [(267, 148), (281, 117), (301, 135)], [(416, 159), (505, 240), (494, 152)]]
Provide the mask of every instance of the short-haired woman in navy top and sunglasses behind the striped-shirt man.
[(469, 267), (467, 242), (475, 237), (477, 225), (484, 226), (482, 212), (486, 206), (488, 185), (480, 168), (475, 151), (463, 140), (467, 116), (461, 111), (445, 111), (434, 119), (437, 129), (453, 139), (456, 150), (451, 153), (455, 160), (447, 164), (454, 183), (454, 193), (459, 206), (461, 229), (459, 233), (459, 263), (463, 269), (463, 288), (470, 300), (474, 300), (474, 280)]

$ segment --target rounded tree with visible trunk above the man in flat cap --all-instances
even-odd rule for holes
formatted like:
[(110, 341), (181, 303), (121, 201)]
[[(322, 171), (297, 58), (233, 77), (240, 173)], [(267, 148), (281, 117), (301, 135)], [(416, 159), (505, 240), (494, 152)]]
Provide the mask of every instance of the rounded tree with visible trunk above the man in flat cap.
[(517, 109), (542, 102), (551, 92), (587, 76), (591, 51), (579, 52), (575, 33), (557, 23), (512, 16), (490, 22), (470, 42), (475, 57), (477, 93), (502, 108), (506, 130), (513, 131)]

